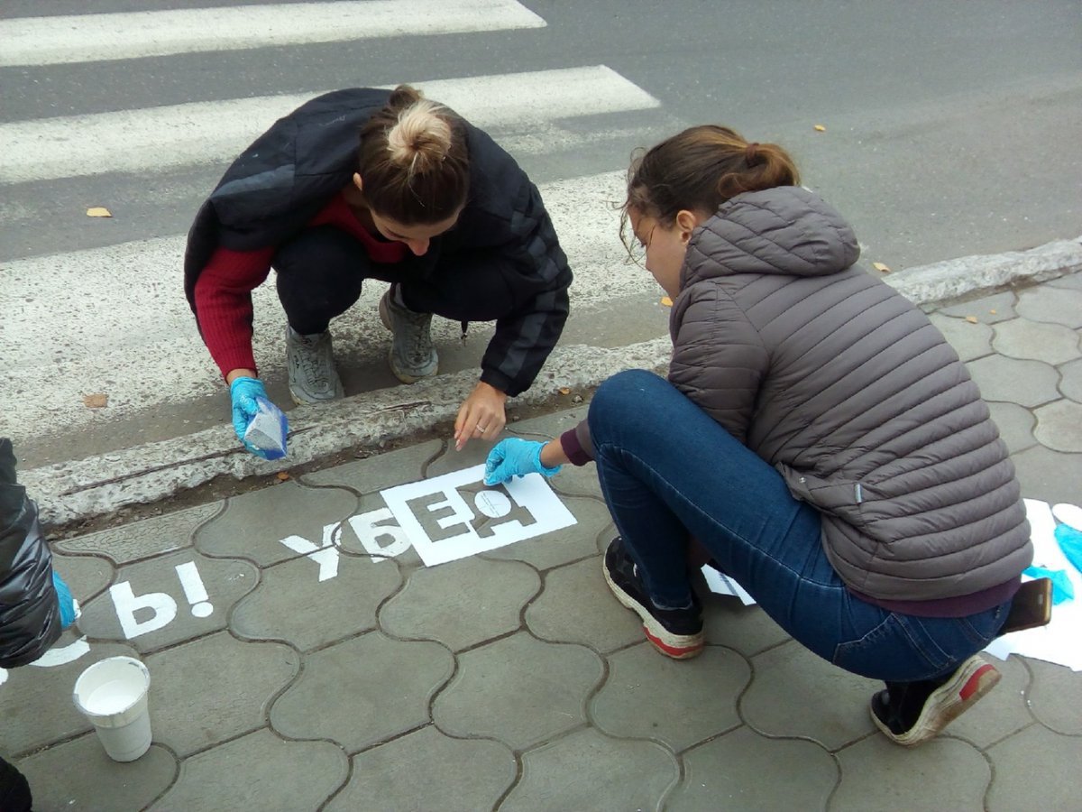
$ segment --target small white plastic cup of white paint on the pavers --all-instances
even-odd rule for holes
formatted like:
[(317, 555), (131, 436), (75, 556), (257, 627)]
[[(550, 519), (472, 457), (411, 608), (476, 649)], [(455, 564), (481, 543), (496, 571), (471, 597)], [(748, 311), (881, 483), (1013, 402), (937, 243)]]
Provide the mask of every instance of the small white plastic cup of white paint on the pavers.
[(134, 761), (150, 748), (146, 694), (150, 672), (133, 657), (106, 657), (76, 680), (71, 698), (114, 761)]

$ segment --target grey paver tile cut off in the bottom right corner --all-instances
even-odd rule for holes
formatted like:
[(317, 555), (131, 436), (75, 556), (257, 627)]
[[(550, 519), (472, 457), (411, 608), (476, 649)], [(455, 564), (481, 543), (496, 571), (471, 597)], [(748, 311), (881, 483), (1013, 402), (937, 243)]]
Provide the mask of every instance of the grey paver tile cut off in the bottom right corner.
[(986, 798), (988, 812), (1077, 810), (1082, 737), (1063, 736), (1034, 724), (989, 747), (995, 777)]

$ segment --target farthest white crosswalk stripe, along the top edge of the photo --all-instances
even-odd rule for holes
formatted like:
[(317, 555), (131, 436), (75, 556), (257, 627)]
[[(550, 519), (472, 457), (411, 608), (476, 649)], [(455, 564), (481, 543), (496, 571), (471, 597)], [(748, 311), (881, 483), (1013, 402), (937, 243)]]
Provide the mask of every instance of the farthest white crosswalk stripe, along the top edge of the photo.
[(364, 0), (0, 21), (0, 66), (540, 28), (514, 0)]

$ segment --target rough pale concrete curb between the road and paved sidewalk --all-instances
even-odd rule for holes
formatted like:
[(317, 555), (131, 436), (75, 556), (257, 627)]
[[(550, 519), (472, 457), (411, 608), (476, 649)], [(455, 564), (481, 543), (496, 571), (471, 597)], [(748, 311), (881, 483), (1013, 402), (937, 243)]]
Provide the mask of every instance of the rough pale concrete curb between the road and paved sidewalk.
[[(1082, 271), (1082, 237), (1028, 251), (909, 269), (884, 280), (925, 309), (1004, 286), (1039, 283)], [(662, 370), (670, 343), (661, 337), (617, 349), (557, 346), (533, 387), (514, 405), (558, 405), (559, 390), (589, 389), (629, 367)], [(289, 457), (266, 462), (237, 445), (229, 425), (122, 451), (21, 472), (42, 521), (66, 525), (119, 508), (153, 503), (221, 475), (238, 480), (314, 462), (352, 447), (380, 446), (454, 420), (476, 382), (473, 370), (438, 376), (412, 387), (370, 392), (330, 406), (290, 412)]]

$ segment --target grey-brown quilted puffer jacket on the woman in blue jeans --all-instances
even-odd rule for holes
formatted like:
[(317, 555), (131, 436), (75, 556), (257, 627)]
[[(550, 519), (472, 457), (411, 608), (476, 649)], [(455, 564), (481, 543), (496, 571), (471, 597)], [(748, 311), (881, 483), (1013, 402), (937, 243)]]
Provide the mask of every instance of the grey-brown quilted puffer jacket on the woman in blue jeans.
[(858, 253), (806, 189), (724, 204), (688, 246), (669, 380), (819, 509), (853, 589), (933, 600), (1008, 581), (1032, 546), (1006, 446), (958, 354)]

